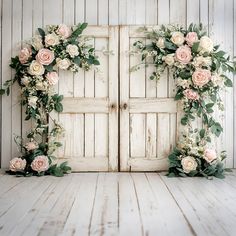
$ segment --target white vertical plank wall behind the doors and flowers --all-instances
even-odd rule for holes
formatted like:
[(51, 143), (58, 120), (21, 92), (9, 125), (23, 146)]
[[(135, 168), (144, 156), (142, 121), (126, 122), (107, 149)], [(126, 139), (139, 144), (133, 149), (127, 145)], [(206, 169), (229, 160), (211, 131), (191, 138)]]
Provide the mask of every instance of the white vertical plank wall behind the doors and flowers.
[[(236, 55), (236, 0), (1, 0), (1, 80), (12, 76), (8, 67), (21, 45), (36, 28), (49, 23), (87, 21), (91, 25), (127, 25), (202, 22), (223, 48)], [(74, 9), (73, 16), (68, 15)], [(225, 112), (221, 122), (225, 132), (217, 141), (228, 152), (227, 166), (236, 167), (236, 85), (223, 95)], [(17, 154), (13, 134), (23, 134), (31, 125), (22, 122), (17, 87), (1, 99), (1, 167)]]

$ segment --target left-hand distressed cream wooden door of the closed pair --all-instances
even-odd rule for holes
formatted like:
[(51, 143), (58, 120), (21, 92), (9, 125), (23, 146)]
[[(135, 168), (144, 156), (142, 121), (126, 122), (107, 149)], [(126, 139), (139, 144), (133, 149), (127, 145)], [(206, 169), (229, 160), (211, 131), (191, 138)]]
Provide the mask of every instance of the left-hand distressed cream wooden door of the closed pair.
[[(58, 151), (73, 171), (118, 169), (118, 27), (89, 26), (99, 56), (98, 71), (60, 71), (59, 93), (64, 110), (59, 121), (66, 132)], [(106, 53), (105, 51), (112, 52)]]

